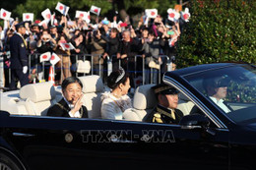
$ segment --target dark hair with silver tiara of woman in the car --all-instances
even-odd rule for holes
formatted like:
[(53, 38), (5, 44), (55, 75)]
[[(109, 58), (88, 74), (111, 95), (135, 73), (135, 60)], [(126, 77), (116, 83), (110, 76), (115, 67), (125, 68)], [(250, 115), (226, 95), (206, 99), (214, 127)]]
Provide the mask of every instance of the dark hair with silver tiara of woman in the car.
[(128, 74), (123, 69), (113, 71), (107, 78), (107, 86), (111, 89), (116, 88), (120, 84), (125, 84), (129, 78)]

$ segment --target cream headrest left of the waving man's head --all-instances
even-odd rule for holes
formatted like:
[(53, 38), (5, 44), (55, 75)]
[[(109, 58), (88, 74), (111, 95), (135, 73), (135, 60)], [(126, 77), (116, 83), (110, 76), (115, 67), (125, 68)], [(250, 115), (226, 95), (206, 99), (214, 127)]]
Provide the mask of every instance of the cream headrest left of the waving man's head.
[(32, 102), (51, 100), (55, 98), (56, 91), (51, 83), (24, 85), (20, 90), (22, 99), (30, 98)]

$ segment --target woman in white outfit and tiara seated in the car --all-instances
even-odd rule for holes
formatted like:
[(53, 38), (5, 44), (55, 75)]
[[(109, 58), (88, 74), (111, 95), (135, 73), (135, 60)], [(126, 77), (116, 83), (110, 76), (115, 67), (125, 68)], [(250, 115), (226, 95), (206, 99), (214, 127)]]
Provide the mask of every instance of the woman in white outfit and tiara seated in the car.
[(101, 117), (122, 120), (123, 112), (132, 107), (131, 99), (127, 95), (131, 87), (130, 79), (123, 69), (119, 69), (109, 75), (107, 85), (111, 92), (106, 91), (101, 96)]

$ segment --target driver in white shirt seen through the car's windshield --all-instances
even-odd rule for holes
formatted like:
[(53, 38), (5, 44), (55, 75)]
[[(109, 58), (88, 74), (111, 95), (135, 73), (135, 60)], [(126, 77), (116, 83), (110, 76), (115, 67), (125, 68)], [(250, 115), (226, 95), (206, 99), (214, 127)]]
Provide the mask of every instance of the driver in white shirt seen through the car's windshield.
[(204, 80), (203, 86), (207, 95), (219, 106), (225, 113), (230, 112), (230, 109), (224, 104), (224, 97), (227, 93), (227, 86), (230, 79), (226, 75), (216, 78), (208, 78)]

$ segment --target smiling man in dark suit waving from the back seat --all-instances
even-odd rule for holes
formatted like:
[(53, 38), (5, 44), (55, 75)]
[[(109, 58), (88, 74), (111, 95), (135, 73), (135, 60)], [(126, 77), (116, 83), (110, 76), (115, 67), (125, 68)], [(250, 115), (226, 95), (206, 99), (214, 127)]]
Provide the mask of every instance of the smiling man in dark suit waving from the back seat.
[(88, 118), (88, 111), (82, 104), (83, 84), (78, 78), (69, 77), (61, 85), (63, 98), (50, 107), (47, 116)]

